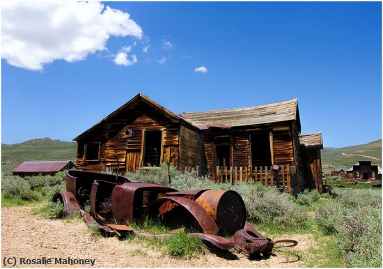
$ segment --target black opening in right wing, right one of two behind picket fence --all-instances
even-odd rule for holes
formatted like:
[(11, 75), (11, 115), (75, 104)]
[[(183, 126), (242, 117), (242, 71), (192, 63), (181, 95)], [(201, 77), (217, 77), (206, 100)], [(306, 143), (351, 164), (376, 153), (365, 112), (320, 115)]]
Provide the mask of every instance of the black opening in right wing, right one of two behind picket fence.
[(253, 167), (271, 167), (272, 153), (268, 132), (251, 134), (251, 164)]

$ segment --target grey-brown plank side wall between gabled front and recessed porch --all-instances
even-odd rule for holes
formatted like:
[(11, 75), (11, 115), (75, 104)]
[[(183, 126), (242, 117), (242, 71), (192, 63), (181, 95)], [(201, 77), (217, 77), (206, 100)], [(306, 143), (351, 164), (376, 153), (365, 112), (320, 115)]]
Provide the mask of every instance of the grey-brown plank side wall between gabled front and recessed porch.
[(198, 132), (180, 126), (180, 160), (179, 168), (201, 165), (201, 138)]

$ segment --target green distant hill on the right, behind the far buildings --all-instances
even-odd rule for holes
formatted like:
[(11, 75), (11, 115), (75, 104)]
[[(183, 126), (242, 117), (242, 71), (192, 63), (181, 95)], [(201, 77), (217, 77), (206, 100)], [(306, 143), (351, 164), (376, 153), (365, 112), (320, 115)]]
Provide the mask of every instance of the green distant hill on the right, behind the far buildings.
[(382, 167), (382, 139), (363, 145), (322, 150), (322, 167), (324, 168), (348, 169), (361, 160), (369, 160)]

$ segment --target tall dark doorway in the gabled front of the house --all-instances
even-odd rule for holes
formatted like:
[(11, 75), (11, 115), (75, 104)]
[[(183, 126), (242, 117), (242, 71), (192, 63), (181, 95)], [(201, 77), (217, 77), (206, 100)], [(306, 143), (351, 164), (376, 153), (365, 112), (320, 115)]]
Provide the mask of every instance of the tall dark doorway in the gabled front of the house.
[(162, 131), (146, 131), (143, 145), (143, 167), (159, 167)]

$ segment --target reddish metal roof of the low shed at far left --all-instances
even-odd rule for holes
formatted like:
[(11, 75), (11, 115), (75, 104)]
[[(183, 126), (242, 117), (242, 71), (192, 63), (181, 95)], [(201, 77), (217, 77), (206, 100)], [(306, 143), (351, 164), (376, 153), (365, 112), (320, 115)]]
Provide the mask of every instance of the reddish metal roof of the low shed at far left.
[(73, 164), (72, 161), (57, 161), (57, 162), (22, 162), (12, 172), (17, 173), (51, 173), (58, 172), (68, 164)]

